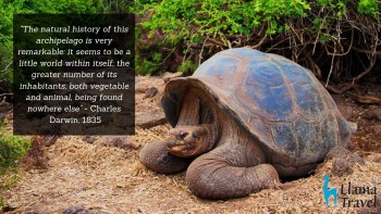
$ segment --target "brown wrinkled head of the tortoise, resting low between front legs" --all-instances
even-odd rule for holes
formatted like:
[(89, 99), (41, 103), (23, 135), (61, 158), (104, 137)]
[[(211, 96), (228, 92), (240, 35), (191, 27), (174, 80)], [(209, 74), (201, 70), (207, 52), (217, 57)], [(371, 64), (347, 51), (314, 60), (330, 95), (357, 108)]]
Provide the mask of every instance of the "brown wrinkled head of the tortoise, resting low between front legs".
[(180, 126), (168, 133), (165, 149), (176, 156), (196, 156), (214, 144), (209, 127)]

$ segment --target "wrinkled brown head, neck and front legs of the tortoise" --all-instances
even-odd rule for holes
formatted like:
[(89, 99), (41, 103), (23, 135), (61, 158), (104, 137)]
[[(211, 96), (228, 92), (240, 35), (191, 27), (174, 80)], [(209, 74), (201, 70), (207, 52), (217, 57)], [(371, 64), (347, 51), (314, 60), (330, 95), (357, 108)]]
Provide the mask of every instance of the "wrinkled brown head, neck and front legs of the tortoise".
[(165, 140), (148, 143), (140, 152), (140, 161), (158, 173), (171, 174), (186, 169), (188, 158), (195, 159), (187, 168), (186, 181), (190, 191), (202, 198), (238, 198), (274, 188), (278, 173), (265, 164), (263, 152), (247, 134), (238, 131), (217, 109), (213, 121), (200, 122), (207, 116), (194, 110), (199, 109), (201, 96), (197, 91), (187, 95), (177, 126)]

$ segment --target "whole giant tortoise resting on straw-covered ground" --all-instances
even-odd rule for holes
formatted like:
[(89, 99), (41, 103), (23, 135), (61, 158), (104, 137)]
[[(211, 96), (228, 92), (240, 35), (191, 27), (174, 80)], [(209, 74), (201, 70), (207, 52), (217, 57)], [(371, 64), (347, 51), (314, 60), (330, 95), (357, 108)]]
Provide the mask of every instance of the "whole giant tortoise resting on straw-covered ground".
[(221, 51), (170, 80), (161, 103), (173, 128), (139, 159), (158, 173), (187, 168), (190, 191), (209, 199), (305, 176), (356, 130), (310, 71), (250, 48)]

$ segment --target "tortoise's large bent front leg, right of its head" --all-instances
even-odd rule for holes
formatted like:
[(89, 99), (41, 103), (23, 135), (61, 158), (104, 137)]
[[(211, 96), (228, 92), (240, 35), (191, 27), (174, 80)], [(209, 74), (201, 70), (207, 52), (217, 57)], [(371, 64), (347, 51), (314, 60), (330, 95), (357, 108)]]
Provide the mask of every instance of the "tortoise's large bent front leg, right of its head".
[(233, 160), (221, 154), (209, 152), (189, 165), (186, 181), (194, 194), (208, 199), (239, 198), (274, 188), (279, 181), (272, 165), (234, 166)]

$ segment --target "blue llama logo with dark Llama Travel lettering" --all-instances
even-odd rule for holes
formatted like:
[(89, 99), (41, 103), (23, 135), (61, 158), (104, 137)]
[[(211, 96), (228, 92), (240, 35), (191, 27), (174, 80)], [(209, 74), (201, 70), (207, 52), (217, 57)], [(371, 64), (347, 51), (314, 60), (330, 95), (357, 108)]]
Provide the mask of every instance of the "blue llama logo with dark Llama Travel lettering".
[[(377, 188), (371, 186), (357, 186), (351, 181), (340, 188), (329, 187), (331, 175), (323, 177), (323, 194), (327, 207), (376, 207)], [(339, 194), (340, 200), (339, 200)], [(332, 199), (332, 200), (330, 200)]]

